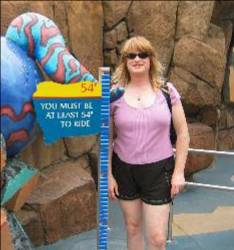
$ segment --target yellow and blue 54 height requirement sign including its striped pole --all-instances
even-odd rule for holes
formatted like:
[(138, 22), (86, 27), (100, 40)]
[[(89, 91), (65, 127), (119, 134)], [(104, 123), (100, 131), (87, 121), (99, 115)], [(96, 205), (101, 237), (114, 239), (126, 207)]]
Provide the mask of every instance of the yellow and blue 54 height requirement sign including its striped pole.
[(107, 250), (110, 69), (99, 68), (99, 82), (42, 82), (33, 102), (47, 144), (68, 136), (100, 134), (97, 249)]

